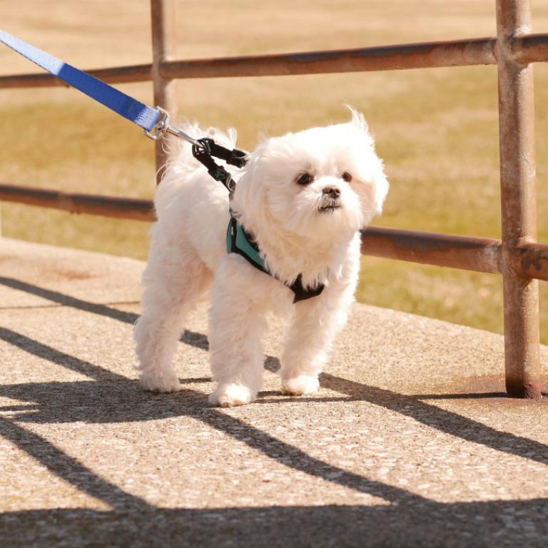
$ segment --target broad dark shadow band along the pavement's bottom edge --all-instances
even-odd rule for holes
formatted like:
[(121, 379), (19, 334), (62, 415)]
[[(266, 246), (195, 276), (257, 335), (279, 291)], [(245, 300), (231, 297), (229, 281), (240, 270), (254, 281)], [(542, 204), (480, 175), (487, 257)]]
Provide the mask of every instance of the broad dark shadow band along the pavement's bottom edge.
[(548, 499), (389, 506), (38, 509), (0, 515), (6, 548), (545, 546)]

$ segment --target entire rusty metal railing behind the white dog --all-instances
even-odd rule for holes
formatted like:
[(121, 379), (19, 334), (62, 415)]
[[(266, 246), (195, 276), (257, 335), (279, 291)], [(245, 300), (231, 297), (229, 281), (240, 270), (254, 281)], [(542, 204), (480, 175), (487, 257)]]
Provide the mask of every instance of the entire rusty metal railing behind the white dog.
[[(151, 0), (152, 64), (89, 71), (109, 83), (153, 81), (155, 104), (176, 116), (176, 78), (284, 76), (387, 71), (442, 66), (497, 65), (502, 240), (409, 230), (368, 228), (362, 253), (484, 273), (502, 274), (504, 355), (508, 395), (541, 396), (539, 296), (537, 280), (548, 280), (548, 245), (536, 243), (532, 63), (548, 61), (548, 34), (530, 34), (529, 0), (496, 0), (497, 37), (402, 44), (338, 51), (172, 59), (173, 0)], [(48, 74), (0, 76), (0, 88), (62, 86)], [(156, 143), (156, 166), (166, 161)], [(158, 180), (161, 173), (158, 174)], [(71, 194), (0, 185), (0, 201), (14, 201), (74, 213), (154, 220), (146, 200)]]

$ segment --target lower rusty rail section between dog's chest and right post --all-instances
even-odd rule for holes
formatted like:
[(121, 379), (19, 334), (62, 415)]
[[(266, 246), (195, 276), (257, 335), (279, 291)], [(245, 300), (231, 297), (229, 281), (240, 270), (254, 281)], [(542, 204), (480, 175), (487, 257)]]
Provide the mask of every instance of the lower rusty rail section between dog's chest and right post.
[(370, 227), (362, 231), (362, 253), (413, 263), (500, 273), (500, 240)]

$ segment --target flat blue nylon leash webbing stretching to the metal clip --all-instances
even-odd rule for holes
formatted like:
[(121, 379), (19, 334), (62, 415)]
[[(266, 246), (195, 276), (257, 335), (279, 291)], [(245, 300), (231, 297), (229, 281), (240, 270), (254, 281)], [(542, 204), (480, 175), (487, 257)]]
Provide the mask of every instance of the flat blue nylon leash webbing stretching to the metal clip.
[(151, 131), (160, 117), (160, 112), (156, 108), (137, 101), (126, 93), (109, 86), (108, 83), (78, 70), (61, 59), (46, 54), (45, 51), (27, 44), (5, 31), (0, 31), (0, 42), (146, 131)]

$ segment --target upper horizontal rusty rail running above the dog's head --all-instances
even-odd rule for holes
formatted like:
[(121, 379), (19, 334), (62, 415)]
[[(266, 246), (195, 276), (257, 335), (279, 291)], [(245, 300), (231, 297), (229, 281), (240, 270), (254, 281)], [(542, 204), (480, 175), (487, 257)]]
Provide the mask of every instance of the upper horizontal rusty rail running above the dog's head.
[[(475, 38), (292, 54), (163, 61), (160, 73), (169, 80), (493, 65), (497, 63), (495, 42), (494, 38)], [(514, 59), (521, 64), (548, 61), (548, 34), (522, 36), (513, 42), (512, 52)], [(151, 64), (141, 64), (95, 68), (88, 73), (107, 83), (131, 83), (150, 81), (151, 68)], [(42, 73), (0, 76), (0, 88), (52, 86), (66, 84), (55, 76)]]

